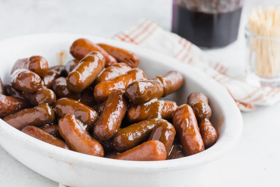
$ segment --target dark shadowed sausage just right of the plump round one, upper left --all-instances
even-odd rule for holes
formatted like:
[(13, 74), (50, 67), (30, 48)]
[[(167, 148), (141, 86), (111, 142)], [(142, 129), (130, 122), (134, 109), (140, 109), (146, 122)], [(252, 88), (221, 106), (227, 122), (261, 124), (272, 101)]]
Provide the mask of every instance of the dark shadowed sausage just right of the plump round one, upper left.
[(66, 76), (66, 70), (63, 65), (51, 67), (51, 68), (49, 68), (49, 71), (43, 78), (44, 85), (47, 88), (50, 88), (55, 79), (57, 79), (58, 77), (64, 77), (64, 76)]

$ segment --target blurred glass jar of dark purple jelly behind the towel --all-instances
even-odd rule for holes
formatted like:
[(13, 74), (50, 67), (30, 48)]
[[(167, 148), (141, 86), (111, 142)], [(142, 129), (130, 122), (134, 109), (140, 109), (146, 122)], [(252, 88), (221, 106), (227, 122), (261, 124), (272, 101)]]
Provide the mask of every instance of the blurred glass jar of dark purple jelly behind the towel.
[(236, 41), (242, 0), (173, 0), (172, 32), (197, 46)]

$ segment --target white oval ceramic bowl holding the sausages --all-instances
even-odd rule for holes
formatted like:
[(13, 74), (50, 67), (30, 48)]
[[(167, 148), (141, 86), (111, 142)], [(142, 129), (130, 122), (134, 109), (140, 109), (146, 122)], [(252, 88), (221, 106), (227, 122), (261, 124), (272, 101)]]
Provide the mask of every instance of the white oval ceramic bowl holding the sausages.
[[(212, 108), (211, 121), (218, 132), (218, 141), (211, 148), (193, 156), (166, 161), (121, 161), (68, 151), (30, 137), (0, 120), (0, 144), (12, 156), (32, 170), (59, 183), (83, 186), (188, 186), (201, 180), (201, 171), (234, 146), (243, 129), (242, 117), (231, 96), (209, 76), (189, 65), (127, 43), (95, 36), (73, 34), (38, 34), (0, 42), (0, 74), (9, 83), (13, 63), (31, 55), (44, 56), (49, 66), (58, 65), (58, 56), (67, 52), (77, 38), (103, 42), (130, 50), (140, 58), (139, 67), (148, 78), (176, 70), (184, 76), (182, 88), (166, 97), (186, 103), (190, 93), (204, 93)], [(203, 173), (203, 172), (202, 172)]]

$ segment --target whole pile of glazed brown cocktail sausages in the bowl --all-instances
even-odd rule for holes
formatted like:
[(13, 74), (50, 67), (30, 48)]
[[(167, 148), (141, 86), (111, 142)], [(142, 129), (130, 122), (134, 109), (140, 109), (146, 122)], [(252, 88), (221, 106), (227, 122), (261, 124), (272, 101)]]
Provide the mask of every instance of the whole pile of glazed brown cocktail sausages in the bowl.
[(147, 79), (132, 52), (86, 39), (70, 53), (54, 67), (42, 56), (17, 60), (11, 84), (0, 80), (2, 120), (54, 146), (120, 160), (181, 158), (217, 141), (205, 95), (179, 107), (161, 99), (180, 89), (180, 73)]

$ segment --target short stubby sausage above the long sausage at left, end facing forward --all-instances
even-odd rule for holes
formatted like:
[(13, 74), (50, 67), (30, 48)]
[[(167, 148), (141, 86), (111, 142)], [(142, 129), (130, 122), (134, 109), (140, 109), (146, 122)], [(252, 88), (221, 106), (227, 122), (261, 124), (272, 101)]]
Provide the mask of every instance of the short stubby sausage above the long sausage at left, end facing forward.
[(50, 106), (56, 101), (56, 95), (51, 89), (38, 89), (33, 95), (30, 95), (30, 101), (34, 106), (46, 103)]

